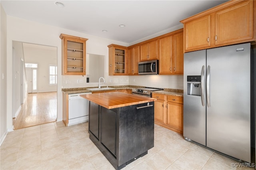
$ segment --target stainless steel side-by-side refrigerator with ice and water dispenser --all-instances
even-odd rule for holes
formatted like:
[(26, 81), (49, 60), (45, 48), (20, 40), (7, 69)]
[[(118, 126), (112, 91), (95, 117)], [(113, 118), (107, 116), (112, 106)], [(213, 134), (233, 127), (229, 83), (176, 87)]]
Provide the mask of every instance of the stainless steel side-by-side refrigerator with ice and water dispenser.
[(184, 138), (251, 162), (253, 76), (250, 43), (185, 53)]

